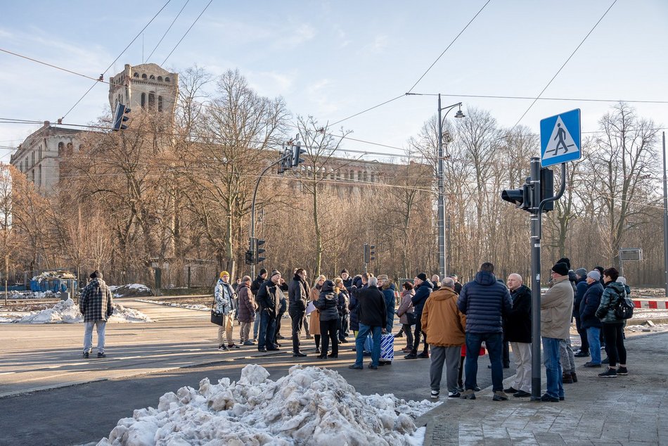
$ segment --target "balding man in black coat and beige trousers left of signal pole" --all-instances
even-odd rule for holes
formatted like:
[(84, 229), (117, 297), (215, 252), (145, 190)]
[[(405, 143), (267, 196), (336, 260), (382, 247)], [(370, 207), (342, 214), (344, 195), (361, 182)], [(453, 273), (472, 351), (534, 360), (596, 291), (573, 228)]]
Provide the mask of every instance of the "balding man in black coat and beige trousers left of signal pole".
[(510, 274), (506, 280), (513, 300), (513, 309), (503, 318), (503, 337), (510, 343), (515, 356), (515, 380), (503, 389), (513, 397), (531, 396), (531, 290), (520, 274)]

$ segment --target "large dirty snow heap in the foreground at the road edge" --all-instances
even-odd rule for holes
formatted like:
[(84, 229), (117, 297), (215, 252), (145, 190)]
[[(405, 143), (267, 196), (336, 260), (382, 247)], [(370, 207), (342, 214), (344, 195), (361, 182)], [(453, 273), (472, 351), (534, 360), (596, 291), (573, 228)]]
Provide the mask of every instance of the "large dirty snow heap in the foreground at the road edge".
[(158, 408), (120, 419), (98, 446), (125, 445), (421, 445), (413, 423), (439, 403), (361, 395), (336, 371), (290, 368), (271, 381), (257, 364), (238, 382), (208, 378), (160, 397)]

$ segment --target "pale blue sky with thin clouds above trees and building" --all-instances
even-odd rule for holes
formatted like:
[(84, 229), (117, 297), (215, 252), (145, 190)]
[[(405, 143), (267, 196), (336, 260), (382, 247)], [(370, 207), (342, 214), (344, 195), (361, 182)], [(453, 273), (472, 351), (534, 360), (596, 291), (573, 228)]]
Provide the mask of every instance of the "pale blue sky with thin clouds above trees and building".
[[(238, 69), (259, 94), (282, 96), (293, 116), (352, 131), (360, 141), (344, 148), (388, 155), (403, 153), (437, 113), (436, 96), (404, 96), (409, 91), (448, 95), (442, 106), (461, 101), (464, 113), (489, 110), (501, 127), (519, 124), (536, 134), (541, 119), (574, 108), (582, 110), (582, 132), (594, 132), (619, 100), (668, 127), (664, 0), (213, 0), (196, 20), (207, 4), (6, 2), (0, 49), (91, 77), (120, 56), (105, 79), (125, 63), (147, 61), (175, 72), (195, 65), (213, 75)], [(542, 97), (579, 100), (539, 100), (529, 109), (573, 51)], [(111, 113), (108, 84), (1, 51), (0, 97), (0, 118), (88, 124)], [(39, 127), (0, 120), (0, 161)]]

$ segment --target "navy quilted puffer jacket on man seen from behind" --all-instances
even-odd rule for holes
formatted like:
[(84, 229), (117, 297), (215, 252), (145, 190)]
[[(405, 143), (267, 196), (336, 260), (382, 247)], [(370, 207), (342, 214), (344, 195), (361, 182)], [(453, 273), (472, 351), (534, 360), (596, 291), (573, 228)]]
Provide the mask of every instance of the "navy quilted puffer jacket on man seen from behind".
[(503, 314), (513, 308), (508, 288), (488, 271), (461, 288), (457, 306), (466, 314), (466, 333), (502, 333)]

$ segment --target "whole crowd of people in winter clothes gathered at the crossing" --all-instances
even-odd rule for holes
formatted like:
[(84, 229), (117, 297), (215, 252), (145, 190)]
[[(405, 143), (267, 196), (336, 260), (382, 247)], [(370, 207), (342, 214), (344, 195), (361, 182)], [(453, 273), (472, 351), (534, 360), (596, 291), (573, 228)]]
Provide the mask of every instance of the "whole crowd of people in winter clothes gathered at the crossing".
[[(461, 284), (458, 276), (439, 280), (418, 274), (402, 283), (399, 293), (392, 279), (371, 273), (350, 276), (343, 269), (328, 279), (320, 275), (309, 285), (307, 272), (297, 268), (287, 282), (281, 272), (261, 269), (230, 283), (221, 272), (214, 290), (214, 311), (223, 314), (218, 330), (219, 350), (239, 348), (233, 340), (233, 319), (240, 323), (242, 345), (259, 352), (279, 350), (281, 319), (287, 311), (292, 323), (293, 357), (302, 351), (302, 331), (314, 338), (319, 359), (338, 358), (340, 345), (354, 338), (356, 352), (351, 369), (369, 369), (387, 360), (381, 355), (381, 336), (392, 335), (395, 315), (401, 329), (394, 340), (406, 338), (404, 359), (430, 358), (431, 397), (438, 398), (443, 368), (448, 397), (475, 400), (477, 361), (489, 355), (494, 401), (531, 395), (532, 293), (520, 274), (509, 274), (504, 283), (494, 275), (494, 265), (484, 262), (475, 278)], [(590, 357), (584, 367), (608, 367), (602, 378), (626, 375), (624, 319), (617, 303), (630, 295), (629, 286), (615, 268), (596, 267), (573, 271), (570, 260), (560, 259), (551, 269), (548, 290), (541, 296), (541, 342), (547, 390), (541, 400), (565, 399), (563, 384), (577, 382), (575, 357)], [(570, 329), (575, 321), (582, 347), (574, 352)], [(252, 338), (251, 338), (252, 328)], [(225, 335), (225, 339), (223, 336)], [(608, 357), (601, 359), (601, 345)], [(420, 351), (421, 350), (421, 351)], [(503, 388), (503, 368), (512, 350), (516, 374)]]

